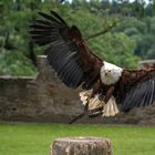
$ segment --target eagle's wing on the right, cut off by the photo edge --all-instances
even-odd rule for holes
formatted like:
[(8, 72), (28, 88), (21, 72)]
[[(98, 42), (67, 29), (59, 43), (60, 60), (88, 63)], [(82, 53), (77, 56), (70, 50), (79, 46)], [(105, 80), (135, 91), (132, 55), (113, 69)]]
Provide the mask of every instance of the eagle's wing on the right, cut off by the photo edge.
[(155, 101), (155, 79), (152, 73), (154, 69), (148, 70), (124, 70), (120, 84), (123, 92), (122, 111), (127, 112), (134, 106), (147, 106)]

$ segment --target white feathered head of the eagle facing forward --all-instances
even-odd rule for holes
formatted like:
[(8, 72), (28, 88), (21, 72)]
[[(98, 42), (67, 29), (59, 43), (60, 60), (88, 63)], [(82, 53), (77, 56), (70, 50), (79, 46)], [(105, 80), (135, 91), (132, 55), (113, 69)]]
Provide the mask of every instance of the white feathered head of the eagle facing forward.
[(101, 68), (101, 81), (106, 85), (115, 84), (120, 80), (122, 72), (123, 69), (120, 66), (104, 61)]

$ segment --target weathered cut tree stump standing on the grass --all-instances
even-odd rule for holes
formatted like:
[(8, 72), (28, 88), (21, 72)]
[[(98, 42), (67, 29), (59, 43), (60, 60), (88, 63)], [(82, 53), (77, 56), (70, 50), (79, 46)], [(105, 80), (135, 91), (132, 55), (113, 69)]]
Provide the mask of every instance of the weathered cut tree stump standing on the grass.
[(50, 155), (112, 155), (112, 145), (104, 137), (62, 137), (54, 140)]

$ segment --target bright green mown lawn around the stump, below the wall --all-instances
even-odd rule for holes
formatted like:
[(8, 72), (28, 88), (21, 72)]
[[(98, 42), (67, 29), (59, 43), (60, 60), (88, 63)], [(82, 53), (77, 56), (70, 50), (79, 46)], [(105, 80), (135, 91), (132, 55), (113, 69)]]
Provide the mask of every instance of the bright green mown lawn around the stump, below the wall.
[(0, 124), (0, 155), (49, 155), (63, 136), (111, 138), (114, 155), (155, 155), (155, 127), (55, 124)]

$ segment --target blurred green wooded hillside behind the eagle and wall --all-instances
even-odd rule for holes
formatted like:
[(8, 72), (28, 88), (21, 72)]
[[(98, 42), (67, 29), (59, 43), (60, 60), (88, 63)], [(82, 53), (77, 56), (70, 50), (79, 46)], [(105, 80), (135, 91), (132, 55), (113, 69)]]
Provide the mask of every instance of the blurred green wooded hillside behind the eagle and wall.
[(32, 43), (29, 24), (38, 11), (50, 9), (78, 25), (84, 38), (116, 23), (89, 40), (91, 49), (106, 61), (134, 68), (141, 60), (155, 59), (154, 0), (1, 0), (0, 75), (37, 74), (37, 55), (43, 49)]

